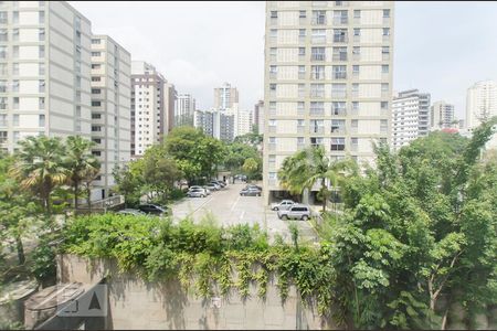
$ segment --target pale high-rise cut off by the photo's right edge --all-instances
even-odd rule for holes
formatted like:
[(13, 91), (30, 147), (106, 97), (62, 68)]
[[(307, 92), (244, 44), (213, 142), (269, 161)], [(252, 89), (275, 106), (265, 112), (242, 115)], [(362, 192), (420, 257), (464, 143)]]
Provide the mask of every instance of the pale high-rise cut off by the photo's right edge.
[(472, 130), (493, 116), (497, 116), (497, 83), (478, 82), (467, 89), (466, 126)]

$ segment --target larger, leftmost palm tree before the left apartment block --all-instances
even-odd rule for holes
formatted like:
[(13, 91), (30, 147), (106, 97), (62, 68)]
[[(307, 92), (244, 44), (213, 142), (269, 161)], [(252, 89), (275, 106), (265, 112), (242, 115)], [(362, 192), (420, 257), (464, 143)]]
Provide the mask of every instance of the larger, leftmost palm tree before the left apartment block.
[(21, 188), (40, 197), (45, 213), (50, 215), (51, 194), (67, 179), (67, 170), (63, 167), (62, 140), (45, 136), (28, 137), (19, 146), (18, 161), (10, 173), (19, 180)]

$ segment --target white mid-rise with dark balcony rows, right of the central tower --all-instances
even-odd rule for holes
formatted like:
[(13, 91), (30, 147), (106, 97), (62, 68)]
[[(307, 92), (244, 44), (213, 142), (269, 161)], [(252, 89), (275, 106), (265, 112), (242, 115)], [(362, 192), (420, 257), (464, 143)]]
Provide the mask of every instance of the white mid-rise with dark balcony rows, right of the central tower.
[(392, 146), (398, 150), (430, 132), (430, 94), (417, 89), (400, 92), (392, 103)]

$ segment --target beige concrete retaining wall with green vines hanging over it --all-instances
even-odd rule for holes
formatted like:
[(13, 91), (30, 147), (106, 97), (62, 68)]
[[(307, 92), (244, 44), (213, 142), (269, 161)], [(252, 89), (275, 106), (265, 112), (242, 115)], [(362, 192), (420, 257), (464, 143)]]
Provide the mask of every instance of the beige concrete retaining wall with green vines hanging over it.
[(275, 282), (267, 286), (265, 301), (258, 299), (255, 287), (246, 300), (235, 292), (203, 299), (184, 292), (177, 279), (148, 282), (134, 274), (118, 274), (109, 260), (57, 257), (59, 282), (98, 282), (104, 277), (110, 329), (337, 329), (315, 308), (305, 308), (294, 287), (285, 303)]

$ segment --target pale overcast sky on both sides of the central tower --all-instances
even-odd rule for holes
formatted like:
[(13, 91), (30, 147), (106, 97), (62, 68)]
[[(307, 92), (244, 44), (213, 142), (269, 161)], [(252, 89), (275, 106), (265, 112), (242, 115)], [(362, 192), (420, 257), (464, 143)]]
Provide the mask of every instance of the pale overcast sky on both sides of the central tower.
[[(223, 82), (239, 88), (244, 109), (263, 98), (264, 2), (70, 3), (200, 109)], [(467, 87), (497, 78), (497, 2), (396, 2), (394, 19), (394, 90), (429, 92), (463, 118)]]

